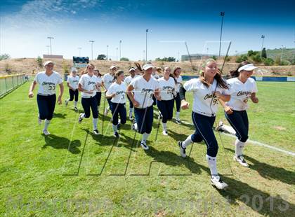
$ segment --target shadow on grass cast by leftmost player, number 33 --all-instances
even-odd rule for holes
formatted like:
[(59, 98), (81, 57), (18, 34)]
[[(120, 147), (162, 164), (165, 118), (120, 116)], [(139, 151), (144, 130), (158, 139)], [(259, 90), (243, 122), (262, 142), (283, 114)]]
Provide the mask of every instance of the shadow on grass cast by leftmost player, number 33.
[(50, 134), (48, 136), (43, 135), (43, 137), (46, 144), (42, 148), (51, 146), (52, 148), (55, 148), (55, 149), (67, 149), (72, 154), (79, 154), (81, 152), (78, 148), (81, 146), (80, 140), (70, 141), (69, 139), (65, 137), (58, 137), (53, 134)]

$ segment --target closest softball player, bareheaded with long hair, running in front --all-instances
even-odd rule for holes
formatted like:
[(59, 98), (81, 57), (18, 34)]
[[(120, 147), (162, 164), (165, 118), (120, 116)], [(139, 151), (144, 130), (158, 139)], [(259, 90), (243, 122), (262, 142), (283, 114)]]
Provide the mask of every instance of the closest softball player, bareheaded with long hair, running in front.
[(202, 65), (199, 78), (188, 80), (180, 88), (181, 109), (188, 109), (188, 102), (185, 101), (185, 91), (192, 91), (192, 122), (195, 125), (195, 133), (188, 136), (185, 141), (178, 141), (181, 156), (186, 157), (185, 148), (193, 142), (205, 141), (207, 146), (206, 160), (211, 171), (211, 184), (218, 189), (228, 185), (218, 176), (216, 167), (216, 155), (218, 144), (213, 132), (216, 112), (218, 110), (218, 98), (223, 102), (230, 99), (228, 85), (218, 72), (217, 63), (214, 59), (207, 59)]

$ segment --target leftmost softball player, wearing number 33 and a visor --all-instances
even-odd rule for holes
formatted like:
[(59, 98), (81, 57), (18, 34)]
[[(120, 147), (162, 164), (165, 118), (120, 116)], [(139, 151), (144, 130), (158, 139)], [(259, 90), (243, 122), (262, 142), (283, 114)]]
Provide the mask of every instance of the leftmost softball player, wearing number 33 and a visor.
[(39, 90), (37, 94), (37, 104), (39, 110), (38, 123), (41, 125), (41, 121), (45, 120), (43, 129), (44, 135), (49, 135), (48, 125), (53, 118), (53, 112), (56, 102), (56, 86), (60, 86), (60, 95), (58, 96), (58, 104), (62, 104), (63, 96), (63, 80), (60, 74), (53, 71), (54, 63), (52, 61), (44, 62), (45, 71), (37, 73), (32, 85), (29, 87), (29, 98), (34, 97), (34, 88), (37, 83), (39, 84)]

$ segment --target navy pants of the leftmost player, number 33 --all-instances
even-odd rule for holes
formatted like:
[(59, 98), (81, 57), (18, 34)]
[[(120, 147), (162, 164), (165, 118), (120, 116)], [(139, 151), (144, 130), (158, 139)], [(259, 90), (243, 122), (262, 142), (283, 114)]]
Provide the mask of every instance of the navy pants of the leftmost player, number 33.
[(39, 118), (41, 120), (51, 120), (55, 109), (56, 95), (41, 96), (37, 94), (37, 104), (39, 110)]

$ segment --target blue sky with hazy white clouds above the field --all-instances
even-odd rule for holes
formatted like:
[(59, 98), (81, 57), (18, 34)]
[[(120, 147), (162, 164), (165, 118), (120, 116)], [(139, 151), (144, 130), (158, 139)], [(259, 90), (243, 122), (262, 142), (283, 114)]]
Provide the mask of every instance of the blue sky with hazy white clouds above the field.
[[(222, 53), (266, 48), (294, 48), (295, 1), (155, 1), (155, 0), (34, 0), (0, 3), (0, 52), (11, 57), (37, 57), (47, 53), (47, 36), (53, 36), (53, 54), (71, 58), (108, 54), (143, 59), (145, 29), (147, 59), (191, 53), (218, 53), (220, 12), (225, 11)], [(163, 43), (161, 41), (174, 41)], [(176, 43), (176, 41), (180, 41)], [(208, 48), (208, 49), (207, 49)]]

